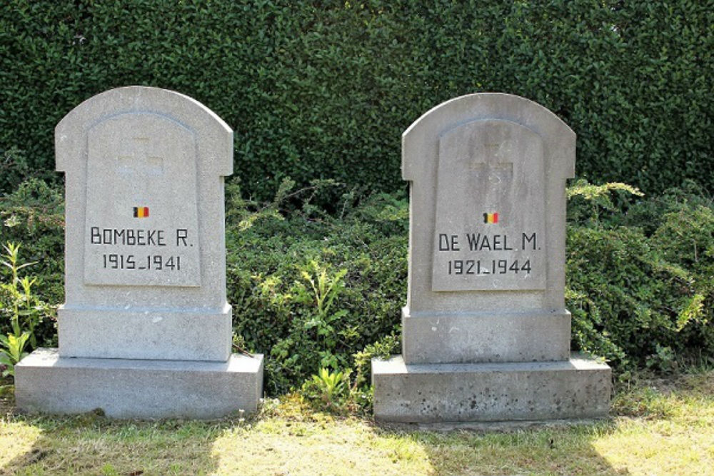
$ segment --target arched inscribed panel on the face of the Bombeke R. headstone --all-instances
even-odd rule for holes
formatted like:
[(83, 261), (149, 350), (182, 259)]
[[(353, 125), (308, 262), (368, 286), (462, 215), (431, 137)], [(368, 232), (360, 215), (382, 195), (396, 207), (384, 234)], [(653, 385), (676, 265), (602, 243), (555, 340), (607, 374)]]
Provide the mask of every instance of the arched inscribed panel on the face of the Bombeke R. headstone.
[(88, 140), (84, 283), (200, 286), (193, 132), (131, 113)]

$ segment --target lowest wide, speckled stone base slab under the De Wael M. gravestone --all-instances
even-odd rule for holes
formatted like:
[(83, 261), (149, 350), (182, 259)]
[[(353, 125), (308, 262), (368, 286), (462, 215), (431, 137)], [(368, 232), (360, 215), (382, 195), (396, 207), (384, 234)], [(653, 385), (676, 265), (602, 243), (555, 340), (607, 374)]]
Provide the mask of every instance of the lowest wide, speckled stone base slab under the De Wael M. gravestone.
[(603, 418), (608, 365), (561, 362), (416, 364), (372, 360), (374, 417), (384, 422), (488, 422)]

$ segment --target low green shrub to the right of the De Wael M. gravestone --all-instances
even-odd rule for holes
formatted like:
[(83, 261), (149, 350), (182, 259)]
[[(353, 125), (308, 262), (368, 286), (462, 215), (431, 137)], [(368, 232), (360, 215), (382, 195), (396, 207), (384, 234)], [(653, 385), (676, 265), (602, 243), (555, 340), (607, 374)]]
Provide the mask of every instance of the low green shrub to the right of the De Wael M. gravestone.
[(568, 228), (575, 345), (620, 371), (714, 355), (713, 203), (683, 190), (619, 203), (603, 220), (591, 213)]

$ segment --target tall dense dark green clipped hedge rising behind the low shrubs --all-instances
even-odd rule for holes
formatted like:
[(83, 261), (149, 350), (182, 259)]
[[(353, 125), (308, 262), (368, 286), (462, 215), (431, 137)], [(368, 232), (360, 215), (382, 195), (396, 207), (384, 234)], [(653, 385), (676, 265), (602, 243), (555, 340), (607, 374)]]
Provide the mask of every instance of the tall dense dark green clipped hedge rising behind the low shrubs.
[(186, 93), (236, 130), (236, 175), (402, 186), (401, 132), (477, 91), (578, 133), (578, 173), (652, 193), (714, 184), (711, 1), (8, 0), (0, 191), (52, 176), (53, 128), (96, 93)]

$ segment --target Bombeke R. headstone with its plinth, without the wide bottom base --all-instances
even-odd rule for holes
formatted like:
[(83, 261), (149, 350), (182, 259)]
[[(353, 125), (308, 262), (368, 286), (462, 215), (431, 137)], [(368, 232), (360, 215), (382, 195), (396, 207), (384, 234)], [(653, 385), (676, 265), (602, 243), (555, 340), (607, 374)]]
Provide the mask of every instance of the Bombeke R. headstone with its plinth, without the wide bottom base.
[[(188, 96), (130, 86), (70, 111), (55, 143), (66, 181), (61, 355), (227, 360), (223, 176), (233, 173), (231, 128)], [(135, 217), (134, 208), (149, 216)], [(176, 313), (194, 323), (164, 339), (153, 321)], [(102, 328), (126, 335), (95, 332)], [(133, 343), (121, 348), (118, 337)], [(196, 340), (216, 347), (193, 352)]]

